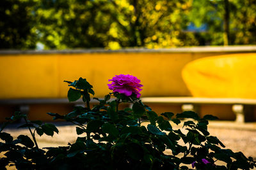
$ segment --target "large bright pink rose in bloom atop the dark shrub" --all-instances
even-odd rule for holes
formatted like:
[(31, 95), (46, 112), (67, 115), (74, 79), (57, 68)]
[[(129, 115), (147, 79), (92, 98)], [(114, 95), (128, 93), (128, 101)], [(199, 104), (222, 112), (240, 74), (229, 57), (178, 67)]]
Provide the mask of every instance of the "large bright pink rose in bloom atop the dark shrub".
[(140, 91), (142, 89), (140, 87), (143, 87), (143, 85), (140, 84), (140, 80), (136, 76), (120, 74), (108, 81), (113, 81), (108, 84), (108, 88), (113, 92), (119, 92), (125, 96), (131, 96), (134, 93), (137, 98), (141, 96)]

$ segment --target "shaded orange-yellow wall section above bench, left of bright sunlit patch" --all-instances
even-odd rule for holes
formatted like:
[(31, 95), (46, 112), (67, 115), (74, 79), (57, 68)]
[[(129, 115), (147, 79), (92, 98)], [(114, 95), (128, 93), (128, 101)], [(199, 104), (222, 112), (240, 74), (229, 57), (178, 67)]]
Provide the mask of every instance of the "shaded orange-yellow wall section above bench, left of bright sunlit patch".
[(86, 78), (95, 97), (108, 94), (115, 74), (132, 74), (144, 85), (142, 96), (189, 96), (181, 77), (190, 61), (220, 53), (55, 53), (0, 55), (0, 99), (63, 98), (63, 80)]

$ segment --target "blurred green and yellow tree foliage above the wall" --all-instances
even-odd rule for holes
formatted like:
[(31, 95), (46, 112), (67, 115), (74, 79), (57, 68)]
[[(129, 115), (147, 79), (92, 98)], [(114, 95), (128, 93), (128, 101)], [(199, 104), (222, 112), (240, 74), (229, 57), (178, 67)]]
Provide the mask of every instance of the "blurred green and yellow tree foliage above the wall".
[[(227, 0), (3, 0), (0, 48), (223, 45)], [(256, 1), (229, 0), (230, 45), (255, 44)], [(227, 6), (227, 5), (226, 5)], [(188, 25), (206, 25), (191, 31)]]

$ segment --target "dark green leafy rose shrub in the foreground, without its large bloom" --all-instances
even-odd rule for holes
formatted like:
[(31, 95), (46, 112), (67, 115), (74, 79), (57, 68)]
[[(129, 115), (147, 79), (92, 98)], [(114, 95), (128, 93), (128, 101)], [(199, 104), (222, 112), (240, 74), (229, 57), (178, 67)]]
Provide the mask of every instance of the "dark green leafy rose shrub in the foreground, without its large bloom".
[[(113, 81), (113, 80), (111, 80)], [(67, 146), (39, 148), (35, 133), (53, 136), (58, 129), (53, 124), (29, 121), (26, 115), (16, 112), (7, 118), (0, 132), (0, 169), (15, 166), (17, 169), (253, 169), (255, 161), (243, 153), (224, 149), (221, 141), (210, 136), (208, 120), (212, 115), (198, 117), (193, 111), (174, 116), (171, 112), (157, 115), (143, 104), (138, 94), (126, 96), (112, 92), (97, 99), (99, 104), (90, 108), (92, 85), (86, 79), (66, 81), (71, 88), (68, 99), (83, 98), (86, 107), (78, 106), (67, 115), (48, 113), (54, 120), (62, 119), (76, 125), (75, 143)], [(111, 84), (113, 85), (113, 84)], [(115, 90), (114, 90), (115, 91)], [(111, 99), (114, 97), (114, 99)], [(132, 108), (119, 110), (120, 103), (131, 103)], [(20, 135), (17, 139), (3, 132), (6, 125), (23, 118), (32, 139)], [(184, 119), (185, 118), (185, 119)], [(188, 121), (186, 118), (189, 118)], [(182, 120), (182, 121), (180, 121)], [(193, 120), (193, 121), (192, 121)], [(143, 122), (148, 122), (147, 125)], [(172, 124), (183, 124), (173, 129)], [(170, 155), (166, 154), (170, 150)], [(217, 160), (226, 166), (214, 164)]]

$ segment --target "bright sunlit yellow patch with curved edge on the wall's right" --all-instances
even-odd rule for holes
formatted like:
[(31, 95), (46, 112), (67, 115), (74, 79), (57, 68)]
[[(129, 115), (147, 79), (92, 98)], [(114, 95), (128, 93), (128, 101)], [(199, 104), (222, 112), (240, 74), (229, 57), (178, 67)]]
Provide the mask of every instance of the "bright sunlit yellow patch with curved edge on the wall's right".
[(256, 99), (256, 53), (194, 60), (184, 67), (182, 76), (195, 97)]

